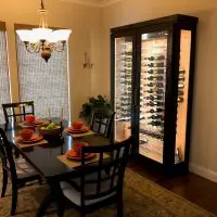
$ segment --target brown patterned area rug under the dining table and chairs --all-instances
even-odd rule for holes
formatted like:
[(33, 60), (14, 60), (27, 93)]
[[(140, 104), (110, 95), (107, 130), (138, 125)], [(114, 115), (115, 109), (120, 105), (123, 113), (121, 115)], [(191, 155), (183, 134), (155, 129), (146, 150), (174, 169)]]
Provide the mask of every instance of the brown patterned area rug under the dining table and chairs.
[[(1, 173), (1, 169), (0, 169)], [(1, 183), (0, 183), (1, 186)], [(31, 187), (30, 187), (31, 188)], [(40, 187), (33, 188), (36, 190), (40, 190)], [(38, 189), (38, 190), (37, 190)], [(143, 217), (143, 212), (145, 212), (145, 216), (150, 217), (217, 217), (216, 215), (212, 214), (210, 212), (204, 209), (203, 207), (192, 203), (191, 201), (174, 193), (173, 191), (165, 189), (164, 187), (161, 187), (159, 184), (153, 182), (152, 180), (148, 179), (146, 177), (141, 176), (140, 174), (133, 171), (130, 168), (126, 169), (125, 174), (125, 188), (124, 188), (124, 197), (126, 200), (126, 217), (136, 217), (137, 215), (139, 217)], [(9, 207), (10, 207), (10, 189), (8, 191), (8, 196), (4, 199), (7, 202), (7, 206), (2, 209), (2, 203), (0, 203), (0, 209), (1, 215), (4, 217), (8, 216)], [(26, 202), (25, 207), (31, 207), (31, 204), (35, 203), (33, 206), (36, 208), (38, 206), (37, 202), (39, 194), (35, 194), (36, 199), (34, 196), (28, 195), (28, 189), (23, 189), (23, 201)], [(22, 193), (22, 192), (21, 192)], [(27, 194), (26, 194), (27, 193)], [(126, 194), (125, 194), (126, 193)], [(130, 193), (130, 194), (129, 194)], [(38, 195), (38, 196), (37, 196)], [(130, 195), (130, 196), (129, 196)], [(139, 197), (138, 197), (139, 196)], [(130, 202), (130, 197), (132, 199)], [(1, 199), (2, 200), (2, 199)], [(0, 202), (1, 202), (0, 200)], [(29, 201), (30, 200), (30, 201)], [(145, 203), (144, 203), (144, 201)], [(136, 202), (135, 202), (136, 201)], [(124, 202), (125, 203), (125, 202)], [(22, 204), (22, 201), (20, 201), (20, 205)], [(143, 204), (143, 205), (142, 205)], [(144, 208), (144, 209), (142, 209)], [(20, 210), (22, 210), (23, 207), (20, 207)], [(23, 209), (24, 210), (24, 209)], [(139, 212), (138, 212), (139, 210)], [(143, 212), (142, 212), (143, 210)], [(26, 210), (24, 210), (26, 212)], [(107, 207), (106, 209), (101, 209), (97, 213), (97, 216), (103, 216), (104, 213), (111, 217), (113, 216), (114, 208)], [(73, 213), (68, 213), (66, 215), (67, 217), (75, 216)], [(102, 215), (103, 214), (103, 215)], [(142, 214), (142, 215), (141, 215)], [(136, 216), (135, 216), (136, 215)], [(26, 213), (20, 213), (20, 217), (30, 217), (33, 215), (28, 215)], [(50, 215), (49, 215), (50, 216)], [(55, 216), (55, 215), (54, 215)], [(50, 217), (54, 217), (51, 215)], [(92, 217), (95, 217), (95, 215), (90, 215)]]

